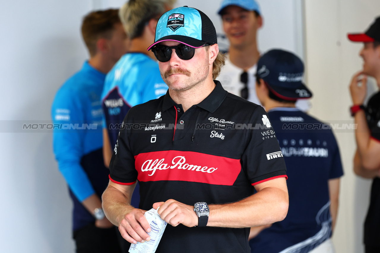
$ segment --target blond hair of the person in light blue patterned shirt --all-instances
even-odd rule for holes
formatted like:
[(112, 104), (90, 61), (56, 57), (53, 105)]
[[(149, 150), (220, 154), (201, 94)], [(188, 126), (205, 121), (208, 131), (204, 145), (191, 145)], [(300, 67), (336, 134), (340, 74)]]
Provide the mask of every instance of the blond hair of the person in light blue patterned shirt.
[(125, 33), (131, 39), (142, 35), (150, 19), (159, 19), (176, 0), (129, 0), (119, 11)]

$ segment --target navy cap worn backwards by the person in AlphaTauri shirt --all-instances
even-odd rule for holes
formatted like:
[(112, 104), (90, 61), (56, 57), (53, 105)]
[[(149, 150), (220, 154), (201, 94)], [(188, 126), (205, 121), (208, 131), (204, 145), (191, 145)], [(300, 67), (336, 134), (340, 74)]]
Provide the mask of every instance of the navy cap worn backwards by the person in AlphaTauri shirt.
[(257, 63), (256, 75), (281, 99), (296, 101), (312, 97), (311, 91), (302, 83), (304, 64), (291, 52), (272, 49), (264, 53)]

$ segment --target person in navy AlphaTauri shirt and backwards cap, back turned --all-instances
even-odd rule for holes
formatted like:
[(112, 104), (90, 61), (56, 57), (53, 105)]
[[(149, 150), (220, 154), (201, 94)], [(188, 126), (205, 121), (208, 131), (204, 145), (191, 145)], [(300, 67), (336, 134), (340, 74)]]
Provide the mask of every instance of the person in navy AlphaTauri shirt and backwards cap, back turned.
[(301, 59), (291, 52), (270, 50), (258, 61), (257, 96), (274, 130), (261, 134), (279, 140), (289, 177), (289, 211), (269, 228), (251, 228), (251, 252), (334, 252), (329, 238), (337, 218), (342, 164), (331, 129), (296, 108), (296, 101), (312, 96), (303, 74)]

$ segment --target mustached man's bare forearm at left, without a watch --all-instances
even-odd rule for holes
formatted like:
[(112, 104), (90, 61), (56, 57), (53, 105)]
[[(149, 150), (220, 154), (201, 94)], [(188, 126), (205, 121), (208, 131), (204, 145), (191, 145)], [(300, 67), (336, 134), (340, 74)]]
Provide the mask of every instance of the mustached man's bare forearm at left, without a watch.
[[(135, 185), (133, 185), (133, 189), (134, 187)], [(122, 192), (112, 185), (108, 185), (102, 195), (102, 205), (106, 217), (112, 224), (119, 226), (123, 217), (135, 209), (130, 205), (131, 196), (132, 194), (129, 192)]]

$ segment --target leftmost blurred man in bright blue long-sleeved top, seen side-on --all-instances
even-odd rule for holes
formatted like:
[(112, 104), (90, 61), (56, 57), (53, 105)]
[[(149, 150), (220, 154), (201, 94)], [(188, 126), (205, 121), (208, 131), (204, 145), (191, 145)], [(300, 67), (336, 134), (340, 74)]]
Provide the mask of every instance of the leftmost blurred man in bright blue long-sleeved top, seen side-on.
[(87, 14), (82, 37), (90, 59), (57, 91), (52, 105), (53, 123), (72, 125), (71, 129), (54, 129), (54, 154), (74, 204), (76, 252), (120, 252), (117, 230), (101, 207), (109, 170), (102, 155), (100, 103), (106, 73), (127, 52), (128, 39), (118, 10)]

